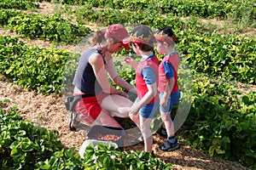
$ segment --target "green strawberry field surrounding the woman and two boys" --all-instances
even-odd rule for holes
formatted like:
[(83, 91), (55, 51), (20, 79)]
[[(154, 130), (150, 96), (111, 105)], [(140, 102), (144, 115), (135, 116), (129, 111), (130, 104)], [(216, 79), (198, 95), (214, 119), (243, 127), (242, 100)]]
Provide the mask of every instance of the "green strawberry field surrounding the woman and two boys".
[[(256, 169), (255, 0), (49, 3), (55, 4), (54, 14), (37, 13), (42, 4), (37, 0), (0, 3), (2, 31), (15, 35), (0, 35), (4, 80), (36, 94), (61, 96), (68, 88), (63, 80), (73, 77), (73, 68), (68, 70), (67, 65), (79, 57), (73, 50), (58, 48), (61, 45), (75, 47), (98, 27), (115, 23), (143, 24), (153, 30), (172, 26), (183, 65), (189, 65), (179, 72), (182, 99), (191, 104), (178, 130), (180, 138), (209, 156)], [(33, 46), (29, 41), (52, 46)], [(119, 58), (129, 54), (131, 51), (120, 52), (115, 64), (120, 77), (134, 85), (134, 72)], [(24, 120), (19, 108), (5, 109), (12, 100), (1, 96), (1, 169), (172, 168), (172, 161), (164, 163), (137, 151), (130, 155), (110, 145), (89, 148), (81, 160), (75, 148), (61, 144), (58, 133)], [(175, 112), (177, 109), (173, 116)], [(100, 158), (94, 164), (95, 156)], [(140, 161), (133, 161), (136, 159)]]

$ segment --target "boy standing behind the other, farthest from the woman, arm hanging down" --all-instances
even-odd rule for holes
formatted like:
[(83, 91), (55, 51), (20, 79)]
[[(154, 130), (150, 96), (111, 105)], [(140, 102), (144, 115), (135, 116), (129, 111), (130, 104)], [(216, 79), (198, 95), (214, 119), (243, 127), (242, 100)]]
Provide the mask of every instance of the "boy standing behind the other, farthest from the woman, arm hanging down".
[(179, 148), (175, 137), (170, 113), (173, 105), (179, 100), (179, 88), (177, 86), (177, 68), (179, 58), (175, 50), (176, 36), (169, 27), (161, 28), (154, 34), (156, 39), (155, 48), (160, 54), (165, 54), (159, 67), (159, 87), (160, 92), (160, 116), (166, 127), (167, 140), (160, 145), (160, 150), (169, 151)]

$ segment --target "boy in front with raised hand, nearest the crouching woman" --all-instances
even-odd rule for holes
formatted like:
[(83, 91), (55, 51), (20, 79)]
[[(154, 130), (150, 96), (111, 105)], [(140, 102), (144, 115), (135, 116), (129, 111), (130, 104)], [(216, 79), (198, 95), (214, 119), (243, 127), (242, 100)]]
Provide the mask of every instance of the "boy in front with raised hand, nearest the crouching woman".
[(148, 26), (137, 26), (131, 31), (130, 37), (123, 40), (131, 43), (134, 52), (142, 57), (137, 64), (130, 57), (125, 62), (136, 69), (137, 100), (131, 106), (131, 120), (137, 124), (144, 139), (144, 150), (152, 153), (153, 136), (150, 122), (159, 105), (158, 65), (159, 60), (154, 54), (154, 33)]

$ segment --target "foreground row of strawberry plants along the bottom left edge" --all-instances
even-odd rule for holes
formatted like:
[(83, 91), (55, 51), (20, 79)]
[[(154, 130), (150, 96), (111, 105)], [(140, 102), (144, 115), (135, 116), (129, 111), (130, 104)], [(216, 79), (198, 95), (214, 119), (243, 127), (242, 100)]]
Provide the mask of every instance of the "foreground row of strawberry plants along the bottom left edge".
[[(8, 105), (9, 100), (0, 101)], [(111, 144), (87, 146), (84, 159), (75, 148), (67, 149), (58, 140), (58, 133), (23, 120), (16, 108), (0, 108), (1, 169), (170, 169), (171, 164), (154, 159), (148, 152), (125, 151)]]

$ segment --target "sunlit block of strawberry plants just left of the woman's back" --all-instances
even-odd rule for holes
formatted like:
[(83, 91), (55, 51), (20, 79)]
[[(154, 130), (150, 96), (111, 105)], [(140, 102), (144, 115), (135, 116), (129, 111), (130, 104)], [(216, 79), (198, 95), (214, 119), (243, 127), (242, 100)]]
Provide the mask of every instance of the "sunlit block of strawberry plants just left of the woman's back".
[(60, 94), (66, 50), (32, 47), (18, 38), (0, 36), (0, 73), (23, 88)]

